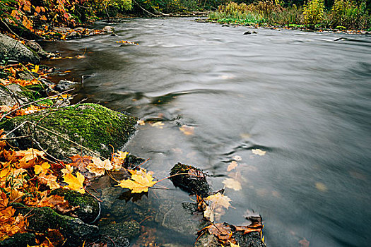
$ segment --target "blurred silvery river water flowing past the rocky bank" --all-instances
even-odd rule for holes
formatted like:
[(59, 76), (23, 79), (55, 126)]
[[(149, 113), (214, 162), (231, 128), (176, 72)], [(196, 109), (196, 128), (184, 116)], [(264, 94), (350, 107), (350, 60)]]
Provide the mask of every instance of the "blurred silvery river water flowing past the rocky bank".
[[(145, 167), (156, 178), (182, 162), (207, 171), (214, 191), (235, 179), (242, 189), (225, 189), (233, 208), (220, 222), (243, 224), (247, 210), (259, 212), (268, 246), (307, 246), (304, 239), (311, 247), (370, 246), (369, 35), (189, 18), (113, 26), (117, 37), (45, 44), (62, 56), (85, 56), (46, 63), (77, 81), (91, 75), (77, 100), (160, 121), (139, 126), (126, 146), (150, 158)], [(247, 30), (257, 34), (243, 35)], [(242, 160), (227, 171), (236, 155)], [(180, 202), (190, 200), (170, 181), (161, 185)]]

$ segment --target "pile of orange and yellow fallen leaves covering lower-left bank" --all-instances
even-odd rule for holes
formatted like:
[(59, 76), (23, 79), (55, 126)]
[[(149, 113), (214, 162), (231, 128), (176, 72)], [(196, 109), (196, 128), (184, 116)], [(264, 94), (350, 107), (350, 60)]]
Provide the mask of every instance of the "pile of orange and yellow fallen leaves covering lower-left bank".
[[(4, 138), (0, 131), (0, 138)], [(29, 148), (13, 150), (5, 140), (0, 141), (0, 241), (16, 233), (27, 231), (26, 215), (16, 215), (11, 203), (23, 203), (28, 207), (52, 207), (60, 214), (73, 216), (73, 210), (63, 196), (50, 195), (56, 188), (68, 188), (80, 193), (86, 192), (89, 180), (110, 171), (124, 169), (122, 165), (127, 152), (116, 152), (112, 159), (100, 159), (75, 155), (72, 162), (49, 161), (44, 152)], [(133, 193), (148, 191), (156, 181), (145, 169), (125, 169), (131, 177), (119, 182), (118, 186), (129, 188)], [(112, 174), (109, 174), (112, 177)], [(114, 179), (112, 177), (112, 179)], [(39, 243), (40, 244), (40, 243)], [(52, 243), (45, 243), (53, 246)]]

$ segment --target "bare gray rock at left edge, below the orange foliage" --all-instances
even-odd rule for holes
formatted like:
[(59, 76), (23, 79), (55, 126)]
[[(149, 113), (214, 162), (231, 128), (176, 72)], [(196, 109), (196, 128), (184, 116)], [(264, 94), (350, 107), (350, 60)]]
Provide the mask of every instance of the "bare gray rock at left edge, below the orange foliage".
[(37, 54), (17, 40), (0, 34), (0, 60), (5, 58), (16, 60), (22, 64), (40, 64)]

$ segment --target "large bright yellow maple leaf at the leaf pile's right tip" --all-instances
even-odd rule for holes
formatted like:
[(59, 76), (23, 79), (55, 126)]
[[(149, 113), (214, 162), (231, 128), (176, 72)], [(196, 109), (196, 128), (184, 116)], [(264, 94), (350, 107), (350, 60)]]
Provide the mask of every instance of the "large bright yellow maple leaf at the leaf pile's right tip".
[(153, 176), (143, 170), (129, 170), (131, 173), (130, 179), (124, 179), (119, 181), (117, 186), (122, 188), (129, 188), (131, 193), (142, 193), (147, 192), (148, 188), (154, 186), (156, 181), (153, 181)]

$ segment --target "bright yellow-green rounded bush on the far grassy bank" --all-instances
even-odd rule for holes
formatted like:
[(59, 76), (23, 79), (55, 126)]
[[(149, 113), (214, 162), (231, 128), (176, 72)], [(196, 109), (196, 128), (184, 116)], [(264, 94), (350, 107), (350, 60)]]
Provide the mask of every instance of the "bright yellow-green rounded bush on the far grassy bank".
[(302, 10), (304, 23), (315, 25), (324, 19), (324, 0), (311, 0), (304, 5)]

